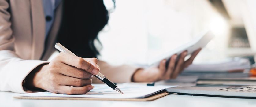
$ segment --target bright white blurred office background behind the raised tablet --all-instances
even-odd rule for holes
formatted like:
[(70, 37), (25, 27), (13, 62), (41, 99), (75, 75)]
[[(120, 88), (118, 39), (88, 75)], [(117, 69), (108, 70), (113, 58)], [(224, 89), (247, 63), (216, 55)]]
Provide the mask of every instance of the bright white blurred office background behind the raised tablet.
[(194, 63), (256, 53), (255, 0), (104, 0), (109, 24), (99, 33), (99, 59), (112, 65), (143, 64), (212, 30)]

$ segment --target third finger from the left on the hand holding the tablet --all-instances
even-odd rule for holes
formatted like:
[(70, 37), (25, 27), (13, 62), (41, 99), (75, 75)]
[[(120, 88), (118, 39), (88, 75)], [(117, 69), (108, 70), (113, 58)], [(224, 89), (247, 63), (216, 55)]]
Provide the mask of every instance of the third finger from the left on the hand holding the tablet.
[(171, 78), (176, 78), (179, 74), (179, 72), (183, 69), (183, 66), (184, 66), (184, 58), (186, 57), (187, 55), (187, 51), (184, 51), (180, 54), (180, 58), (177, 62), (177, 65), (176, 65), (176, 68), (173, 72), (173, 75), (171, 76)]

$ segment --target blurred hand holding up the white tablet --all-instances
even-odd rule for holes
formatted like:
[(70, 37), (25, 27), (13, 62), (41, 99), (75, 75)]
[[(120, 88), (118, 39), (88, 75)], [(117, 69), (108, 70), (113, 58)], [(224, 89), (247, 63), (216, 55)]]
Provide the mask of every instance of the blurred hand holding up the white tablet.
[(184, 51), (180, 54), (179, 59), (176, 62), (177, 55), (173, 55), (170, 58), (168, 67), (166, 67), (166, 60), (162, 60), (158, 67), (152, 67), (148, 69), (139, 69), (137, 70), (133, 77), (133, 82), (154, 82), (160, 80), (175, 79), (184, 68), (192, 64), (196, 55), (200, 52), (201, 49), (196, 50), (192, 53), (191, 57), (184, 61), (184, 58), (187, 55), (187, 51)]

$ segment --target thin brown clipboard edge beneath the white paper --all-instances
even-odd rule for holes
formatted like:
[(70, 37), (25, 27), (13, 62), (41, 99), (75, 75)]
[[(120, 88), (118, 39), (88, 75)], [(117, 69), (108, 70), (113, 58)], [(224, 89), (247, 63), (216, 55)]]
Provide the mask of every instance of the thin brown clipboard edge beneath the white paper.
[(153, 101), (155, 99), (169, 95), (166, 90), (153, 94), (146, 98), (78, 98), (78, 97), (24, 97), (14, 96), (15, 99), (41, 99), (41, 100), (108, 100), (108, 101)]

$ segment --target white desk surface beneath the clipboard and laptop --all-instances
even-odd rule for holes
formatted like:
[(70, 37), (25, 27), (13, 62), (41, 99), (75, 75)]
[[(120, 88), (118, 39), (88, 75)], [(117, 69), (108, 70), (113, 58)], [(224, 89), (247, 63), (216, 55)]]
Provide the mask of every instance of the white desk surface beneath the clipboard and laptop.
[[(165, 84), (166, 83), (158, 83)], [(168, 84), (177, 85), (177, 84)], [(193, 85), (193, 84), (185, 84)], [(91, 101), (91, 100), (24, 100), (14, 99), (18, 93), (0, 92), (0, 107), (256, 107), (256, 99), (220, 98), (171, 94), (154, 101)]]

